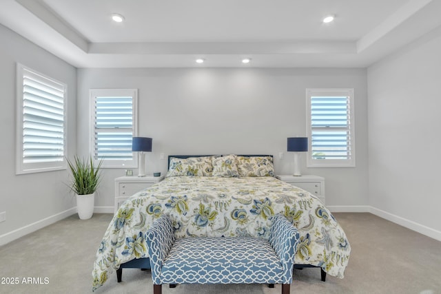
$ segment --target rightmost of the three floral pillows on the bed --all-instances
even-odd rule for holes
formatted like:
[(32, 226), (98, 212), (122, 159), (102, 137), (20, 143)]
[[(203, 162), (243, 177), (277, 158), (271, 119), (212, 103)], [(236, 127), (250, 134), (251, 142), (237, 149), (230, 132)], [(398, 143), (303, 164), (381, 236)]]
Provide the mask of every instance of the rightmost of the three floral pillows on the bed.
[(239, 176), (274, 176), (271, 156), (237, 156)]

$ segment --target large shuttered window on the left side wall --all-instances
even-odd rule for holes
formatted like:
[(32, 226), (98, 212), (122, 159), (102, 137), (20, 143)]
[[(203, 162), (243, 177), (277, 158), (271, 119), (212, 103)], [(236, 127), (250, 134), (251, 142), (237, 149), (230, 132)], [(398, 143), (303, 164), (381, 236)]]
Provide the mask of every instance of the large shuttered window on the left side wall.
[(67, 86), (17, 63), (17, 174), (65, 169)]

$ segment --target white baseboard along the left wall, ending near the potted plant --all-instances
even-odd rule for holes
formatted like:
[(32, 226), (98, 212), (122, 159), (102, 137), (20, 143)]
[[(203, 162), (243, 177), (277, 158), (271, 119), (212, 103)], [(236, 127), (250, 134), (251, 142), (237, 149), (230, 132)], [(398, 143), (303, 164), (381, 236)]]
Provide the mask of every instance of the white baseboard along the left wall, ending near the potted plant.
[(67, 218), (68, 216), (72, 216), (72, 214), (76, 213), (76, 207), (71, 209), (62, 211), (60, 213), (54, 214), (54, 216), (49, 216), (48, 218), (43, 218), (43, 220), (39, 220), (37, 222), (33, 222), (32, 224), (28, 224), (25, 227), (21, 227), (14, 231), (10, 231), (9, 233), (5, 233), (0, 235), (0, 246), (7, 244), (13, 240), (23, 237), (24, 235), (28, 235), (34, 231), (42, 229), (54, 222), (58, 222), (59, 220), (63, 220), (63, 218)]

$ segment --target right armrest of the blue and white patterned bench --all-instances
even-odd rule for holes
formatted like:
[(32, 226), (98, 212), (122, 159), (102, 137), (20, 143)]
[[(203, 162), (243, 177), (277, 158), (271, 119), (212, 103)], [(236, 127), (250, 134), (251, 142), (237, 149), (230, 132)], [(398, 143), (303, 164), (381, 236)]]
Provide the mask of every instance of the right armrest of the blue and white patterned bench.
[(294, 267), (294, 255), (300, 239), (298, 230), (281, 214), (273, 217), (269, 230), (269, 243), (273, 247), (283, 266), (283, 284), (291, 284)]

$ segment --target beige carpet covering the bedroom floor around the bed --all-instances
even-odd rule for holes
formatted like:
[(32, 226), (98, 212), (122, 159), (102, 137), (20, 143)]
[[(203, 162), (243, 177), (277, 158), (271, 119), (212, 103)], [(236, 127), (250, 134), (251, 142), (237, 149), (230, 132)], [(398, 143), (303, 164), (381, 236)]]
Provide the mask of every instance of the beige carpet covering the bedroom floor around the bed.
[[(441, 294), (441, 242), (373, 216), (334, 213), (352, 251), (344, 279), (319, 269), (294, 271), (291, 293)], [(71, 216), (0, 247), (0, 293), (92, 293), (96, 249), (112, 216)], [(10, 284), (18, 278), (18, 284)], [(23, 280), (24, 278), (24, 280)], [(26, 284), (26, 283), (27, 284)], [(95, 293), (152, 293), (150, 271), (124, 269)], [(280, 293), (280, 286), (178, 285), (163, 293)]]

